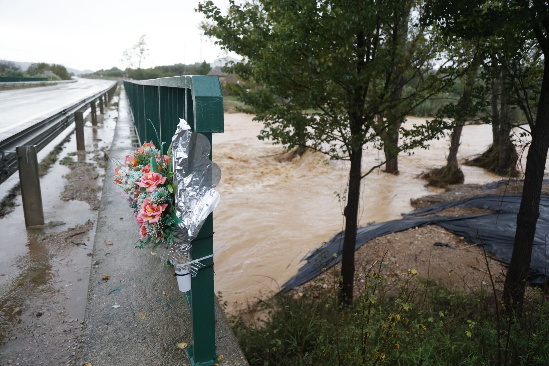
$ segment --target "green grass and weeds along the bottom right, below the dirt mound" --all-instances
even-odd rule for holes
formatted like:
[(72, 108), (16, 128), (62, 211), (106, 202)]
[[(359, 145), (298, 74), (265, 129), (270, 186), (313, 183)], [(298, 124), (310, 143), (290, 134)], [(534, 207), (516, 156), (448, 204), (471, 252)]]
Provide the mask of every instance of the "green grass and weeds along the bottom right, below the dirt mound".
[(233, 330), (253, 366), (549, 363), (549, 304), (541, 291), (522, 318), (506, 318), (491, 289), (427, 287), (416, 272), (389, 295), (383, 265), (371, 267), (349, 308), (339, 305), (337, 290), (316, 283), (250, 308), (255, 319), (233, 318)]

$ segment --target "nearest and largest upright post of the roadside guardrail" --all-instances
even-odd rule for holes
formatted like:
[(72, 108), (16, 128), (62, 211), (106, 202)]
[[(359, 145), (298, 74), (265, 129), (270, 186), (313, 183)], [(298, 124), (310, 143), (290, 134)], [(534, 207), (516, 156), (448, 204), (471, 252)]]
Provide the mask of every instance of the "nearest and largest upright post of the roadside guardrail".
[(19, 182), (21, 184), (21, 197), (23, 198), (25, 225), (27, 227), (43, 225), (44, 211), (42, 209), (36, 146), (18, 146), (15, 153), (19, 165)]

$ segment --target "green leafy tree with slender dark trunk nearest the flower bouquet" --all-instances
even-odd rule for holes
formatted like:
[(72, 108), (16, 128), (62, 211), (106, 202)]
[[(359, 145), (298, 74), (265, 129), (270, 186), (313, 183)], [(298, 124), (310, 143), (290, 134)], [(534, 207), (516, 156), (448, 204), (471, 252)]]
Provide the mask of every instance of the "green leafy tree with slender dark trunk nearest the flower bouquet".
[[(211, 1), (197, 10), (208, 19), (205, 34), (245, 59), (226, 70), (258, 85), (249, 91), (233, 85), (231, 92), (264, 123), (260, 138), (290, 149), (306, 145), (350, 162), (340, 291), (350, 303), (361, 181), (385, 164), (382, 159), (363, 171), (362, 151), (389, 143), (393, 157), (439, 136), (447, 126), (438, 122), (407, 128), (399, 123), (451, 85), (460, 55), (449, 44), (441, 46), (435, 27), (419, 24), (421, 3), (229, 3), (226, 15)], [(402, 137), (399, 144), (393, 142), (395, 132)]]

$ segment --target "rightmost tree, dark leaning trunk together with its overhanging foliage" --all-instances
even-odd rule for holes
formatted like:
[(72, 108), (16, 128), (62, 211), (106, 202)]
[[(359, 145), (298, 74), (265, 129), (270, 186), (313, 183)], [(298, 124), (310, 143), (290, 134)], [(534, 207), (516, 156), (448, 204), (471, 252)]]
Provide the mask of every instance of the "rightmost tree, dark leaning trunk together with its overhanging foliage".
[[(540, 57), (543, 55), (541, 82), (537, 81), (539, 93), (534, 94), (539, 95), (537, 98), (528, 96), (528, 88), (520, 86), (528, 80), (528, 76), (523, 74), (524, 69), (507, 67), (507, 71), (511, 71), (508, 77), (513, 84), (518, 83), (512, 89), (518, 91), (515, 94), (517, 100), (522, 95), (523, 102), (518, 103), (525, 110), (531, 134), (513, 254), (503, 290), (507, 310), (521, 313), (536, 223), (540, 215), (541, 186), (549, 149), (549, 5), (547, 2), (535, 0), (434, 0), (430, 4), (428, 18), (436, 19), (442, 29), (456, 36), (471, 38), (483, 34), (505, 37), (506, 47), (514, 49), (516, 53), (520, 53), (525, 42), (534, 42), (541, 51)], [(514, 75), (513, 70), (517, 70)], [(532, 86), (535, 82), (530, 80), (529, 84)], [(536, 99), (534, 105), (531, 105), (531, 99)], [(537, 109), (535, 114), (533, 108)]]

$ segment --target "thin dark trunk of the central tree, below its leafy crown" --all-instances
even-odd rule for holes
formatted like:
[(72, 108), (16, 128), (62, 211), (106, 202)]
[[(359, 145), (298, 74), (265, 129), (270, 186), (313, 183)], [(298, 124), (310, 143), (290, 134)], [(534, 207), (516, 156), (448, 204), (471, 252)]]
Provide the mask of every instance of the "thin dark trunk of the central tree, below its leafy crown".
[(340, 300), (346, 305), (352, 303), (353, 285), (355, 279), (355, 246), (356, 229), (358, 226), (358, 204), (360, 202), (360, 181), (362, 176), (362, 146), (350, 154), (351, 169), (347, 189), (347, 205), (345, 206), (345, 238), (341, 253)]

